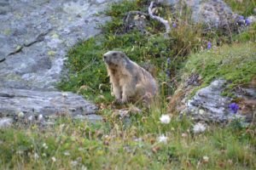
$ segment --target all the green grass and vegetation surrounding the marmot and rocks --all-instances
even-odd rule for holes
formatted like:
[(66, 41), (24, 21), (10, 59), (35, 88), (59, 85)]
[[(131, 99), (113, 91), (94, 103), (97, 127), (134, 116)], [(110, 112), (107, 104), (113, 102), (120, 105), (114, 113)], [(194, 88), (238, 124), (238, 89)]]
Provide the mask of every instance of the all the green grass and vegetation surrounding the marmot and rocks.
[[(253, 1), (244, 1), (243, 6), (235, 0), (226, 2), (239, 14), (252, 13)], [(235, 120), (226, 126), (209, 124), (204, 133), (195, 134), (193, 119), (167, 113), (166, 98), (192, 73), (201, 75), (201, 87), (223, 77), (230, 83), (229, 93), (249, 83), (256, 75), (256, 25), (230, 38), (215, 31), (203, 32), (203, 26), (191, 23), (188, 8), (177, 16), (161, 7), (162, 17), (181, 18), (177, 28), (172, 28), (171, 38), (164, 38), (164, 27), (155, 20), (148, 22), (146, 35), (136, 29), (124, 31), (125, 14), (147, 12), (147, 8), (146, 0), (113, 3), (106, 12), (113, 20), (102, 26), (102, 35), (79, 42), (67, 54), (69, 72), (58, 87), (96, 102), (104, 121), (65, 117), (50, 127), (15, 124), (0, 129), (0, 169), (256, 168), (255, 125), (244, 126)], [(212, 49), (207, 50), (207, 42), (212, 42)], [(113, 49), (124, 51), (138, 64), (155, 65), (160, 82), (159, 101), (149, 109), (141, 108), (140, 114), (131, 112), (129, 118), (121, 118), (112, 105), (102, 62), (102, 54)], [(172, 121), (162, 124), (163, 114), (172, 116)], [(166, 143), (158, 141), (162, 134), (168, 138)]]

